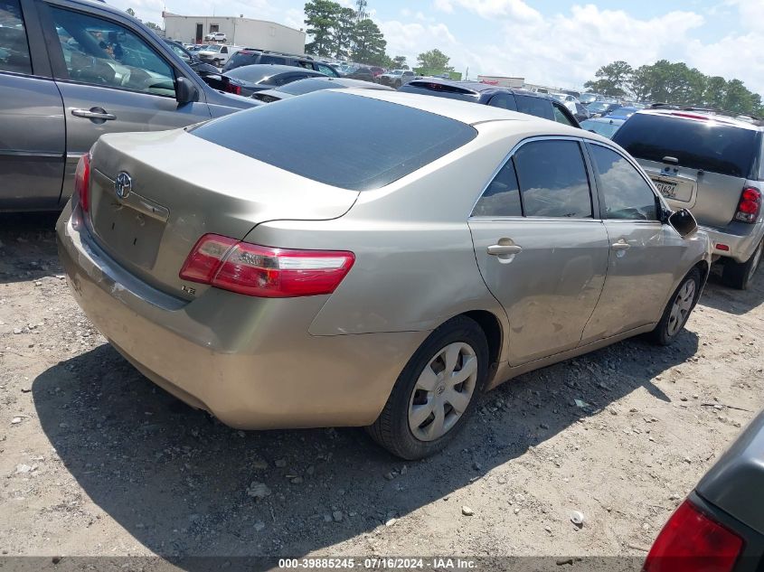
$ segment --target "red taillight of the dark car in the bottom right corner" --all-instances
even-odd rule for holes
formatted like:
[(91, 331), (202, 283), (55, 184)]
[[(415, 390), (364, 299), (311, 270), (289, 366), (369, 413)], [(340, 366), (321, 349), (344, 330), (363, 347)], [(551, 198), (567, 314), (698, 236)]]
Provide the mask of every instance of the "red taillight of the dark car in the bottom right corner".
[(743, 541), (684, 501), (674, 511), (645, 560), (643, 572), (729, 572)]

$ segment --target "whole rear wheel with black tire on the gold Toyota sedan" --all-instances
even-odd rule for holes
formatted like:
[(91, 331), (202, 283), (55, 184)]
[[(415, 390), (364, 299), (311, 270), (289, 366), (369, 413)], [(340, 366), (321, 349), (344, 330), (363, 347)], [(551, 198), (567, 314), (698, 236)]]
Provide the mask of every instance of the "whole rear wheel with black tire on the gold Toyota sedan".
[[(448, 375), (443, 375), (449, 368), (454, 376), (450, 388)], [(367, 431), (379, 445), (403, 459), (433, 455), (467, 423), (487, 378), (486, 334), (474, 320), (457, 316), (430, 333), (411, 356), (380, 417)], [(419, 425), (417, 417), (423, 419)]]

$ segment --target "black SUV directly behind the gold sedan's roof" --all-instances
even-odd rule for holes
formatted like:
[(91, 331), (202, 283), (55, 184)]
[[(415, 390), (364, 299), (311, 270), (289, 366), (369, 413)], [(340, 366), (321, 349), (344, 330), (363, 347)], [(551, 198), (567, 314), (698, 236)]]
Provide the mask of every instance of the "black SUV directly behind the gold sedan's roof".
[(462, 99), (495, 108), (510, 109), (579, 127), (573, 114), (555, 98), (526, 89), (497, 88), (476, 81), (449, 81), (436, 78), (413, 80), (398, 89), (439, 98)]

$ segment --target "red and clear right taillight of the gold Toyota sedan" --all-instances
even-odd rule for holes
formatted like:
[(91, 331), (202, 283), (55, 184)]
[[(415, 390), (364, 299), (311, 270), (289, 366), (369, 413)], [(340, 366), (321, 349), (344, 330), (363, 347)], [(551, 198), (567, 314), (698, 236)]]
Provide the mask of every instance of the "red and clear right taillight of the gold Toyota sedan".
[(331, 294), (354, 261), (354, 254), (344, 250), (261, 247), (205, 234), (186, 258), (180, 277), (264, 298)]

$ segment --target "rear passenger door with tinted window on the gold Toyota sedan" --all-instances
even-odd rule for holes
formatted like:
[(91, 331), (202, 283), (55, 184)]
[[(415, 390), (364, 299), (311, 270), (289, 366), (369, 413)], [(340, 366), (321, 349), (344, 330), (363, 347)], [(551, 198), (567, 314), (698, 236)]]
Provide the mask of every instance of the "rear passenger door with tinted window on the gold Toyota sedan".
[(608, 233), (578, 141), (514, 151), (469, 219), (480, 272), (509, 319), (509, 363), (577, 347), (605, 282)]

